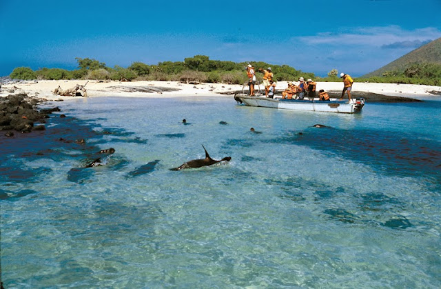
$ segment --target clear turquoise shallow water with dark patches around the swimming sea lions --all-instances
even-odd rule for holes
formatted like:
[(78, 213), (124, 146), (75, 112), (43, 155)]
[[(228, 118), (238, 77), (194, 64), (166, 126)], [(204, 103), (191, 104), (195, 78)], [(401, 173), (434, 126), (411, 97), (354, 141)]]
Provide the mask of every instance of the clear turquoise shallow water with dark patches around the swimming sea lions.
[[(6, 288), (441, 287), (440, 99), (360, 114), (232, 97), (46, 106), (61, 108), (47, 130), (0, 137)], [(170, 170), (202, 145), (232, 161)]]

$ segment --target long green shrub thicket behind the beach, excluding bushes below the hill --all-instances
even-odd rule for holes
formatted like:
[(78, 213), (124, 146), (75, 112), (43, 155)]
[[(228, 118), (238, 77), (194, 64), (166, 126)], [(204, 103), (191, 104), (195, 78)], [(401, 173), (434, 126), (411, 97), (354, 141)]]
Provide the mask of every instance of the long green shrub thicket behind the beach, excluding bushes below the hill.
[[(245, 68), (248, 63), (233, 61), (211, 60), (205, 55), (196, 55), (185, 58), (184, 61), (165, 61), (156, 65), (147, 65), (134, 62), (128, 68), (115, 66), (109, 68), (103, 62), (95, 59), (76, 58), (76, 70), (60, 68), (41, 68), (33, 71), (31, 68), (15, 68), (10, 74), (12, 79), (94, 79), (94, 80), (165, 80), (165, 81), (199, 81), (209, 83), (234, 83), (243, 84), (247, 81)], [(277, 81), (293, 81), (299, 77), (315, 78), (314, 73), (302, 72), (290, 66), (277, 66), (265, 62), (253, 61), (256, 68), (271, 67)], [(258, 79), (263, 74), (257, 73)]]

